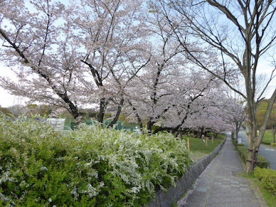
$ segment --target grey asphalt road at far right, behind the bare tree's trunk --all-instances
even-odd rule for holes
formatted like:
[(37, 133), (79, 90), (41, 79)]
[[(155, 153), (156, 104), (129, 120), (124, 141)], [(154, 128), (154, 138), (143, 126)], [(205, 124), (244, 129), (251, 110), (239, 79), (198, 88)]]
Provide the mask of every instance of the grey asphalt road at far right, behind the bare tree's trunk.
[[(242, 143), (248, 147), (248, 137), (246, 135), (246, 132), (241, 131), (239, 132), (239, 138), (242, 138)], [(270, 161), (270, 168), (273, 170), (276, 170), (276, 149), (275, 148), (270, 148), (266, 145), (261, 145), (259, 147), (259, 154), (263, 155)]]

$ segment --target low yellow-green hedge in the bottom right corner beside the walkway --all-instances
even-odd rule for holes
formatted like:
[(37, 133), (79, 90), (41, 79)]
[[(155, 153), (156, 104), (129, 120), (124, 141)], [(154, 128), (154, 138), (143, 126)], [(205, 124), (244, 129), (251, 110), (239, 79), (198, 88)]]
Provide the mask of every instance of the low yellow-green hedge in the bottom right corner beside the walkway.
[(261, 181), (261, 185), (270, 193), (276, 195), (276, 170), (255, 168), (254, 175)]

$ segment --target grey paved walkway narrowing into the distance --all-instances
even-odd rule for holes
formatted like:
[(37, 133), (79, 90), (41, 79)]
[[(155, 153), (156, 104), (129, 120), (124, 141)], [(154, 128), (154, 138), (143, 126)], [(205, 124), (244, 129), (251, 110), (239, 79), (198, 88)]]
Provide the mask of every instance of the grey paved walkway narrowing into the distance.
[(239, 155), (228, 137), (217, 158), (203, 172), (193, 192), (178, 201), (178, 206), (266, 206), (248, 179), (237, 175), (244, 170)]

